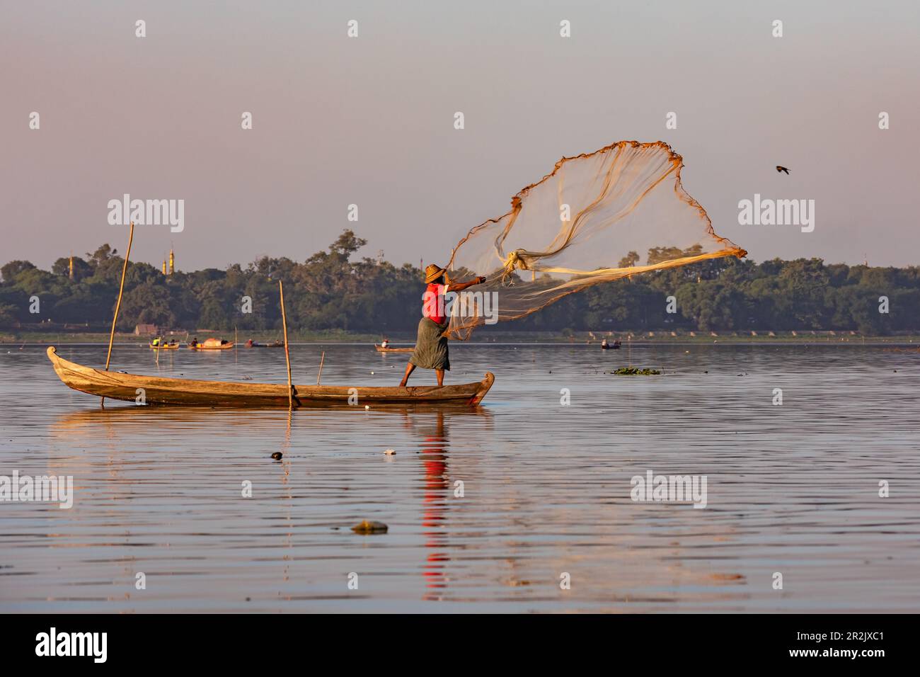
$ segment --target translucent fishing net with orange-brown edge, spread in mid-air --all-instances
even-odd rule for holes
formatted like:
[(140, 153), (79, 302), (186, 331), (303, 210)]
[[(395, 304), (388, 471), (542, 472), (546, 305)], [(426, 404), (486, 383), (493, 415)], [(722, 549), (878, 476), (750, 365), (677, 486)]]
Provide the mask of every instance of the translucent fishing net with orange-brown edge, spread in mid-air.
[(486, 321), (516, 320), (627, 275), (744, 256), (684, 192), (683, 166), (661, 141), (620, 141), (560, 159), (512, 198), (508, 214), (473, 228), (454, 248), (449, 279), (487, 280), (460, 293), (445, 334), (466, 339)]

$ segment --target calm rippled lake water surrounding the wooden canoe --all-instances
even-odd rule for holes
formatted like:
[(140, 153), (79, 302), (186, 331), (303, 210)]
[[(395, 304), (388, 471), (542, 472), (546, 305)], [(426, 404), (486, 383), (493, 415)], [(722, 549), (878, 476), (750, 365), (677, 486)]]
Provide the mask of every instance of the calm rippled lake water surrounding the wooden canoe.
[[(920, 354), (452, 344), (448, 382), (496, 375), (476, 411), (316, 409), (289, 420), (100, 410), (63, 385), (44, 348), (0, 347), (0, 475), (75, 482), (69, 510), (0, 503), (0, 612), (920, 609)], [(328, 384), (396, 385), (408, 357), (293, 346), (295, 382), (316, 380), (324, 349)], [(105, 363), (105, 346), (59, 352)], [(604, 374), (627, 363), (665, 374)], [(153, 351), (124, 345), (112, 364), (286, 378), (279, 350), (183, 350), (157, 366)], [(707, 475), (707, 508), (633, 502), (630, 478), (649, 470)], [(362, 519), (389, 531), (353, 533)], [(135, 589), (138, 572), (146, 589)]]

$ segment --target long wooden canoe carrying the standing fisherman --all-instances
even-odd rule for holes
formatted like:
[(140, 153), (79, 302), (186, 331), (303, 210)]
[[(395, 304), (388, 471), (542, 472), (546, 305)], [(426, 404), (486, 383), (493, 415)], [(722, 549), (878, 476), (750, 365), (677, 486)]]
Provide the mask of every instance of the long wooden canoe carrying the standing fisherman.
[[(287, 384), (234, 383), (223, 380), (166, 379), (157, 376), (137, 376), (117, 371), (100, 371), (69, 362), (57, 355), (54, 346), (48, 348), (48, 358), (64, 384), (75, 391), (109, 397), (113, 400), (135, 402), (138, 389), (144, 390), (148, 404), (210, 404), (224, 406), (287, 406)], [(462, 404), (476, 405), (492, 387), (495, 377), (476, 383), (450, 386), (294, 386), (296, 407), (349, 404), (357, 395), (357, 405), (364, 404)], [(353, 401), (353, 400), (352, 400)]]

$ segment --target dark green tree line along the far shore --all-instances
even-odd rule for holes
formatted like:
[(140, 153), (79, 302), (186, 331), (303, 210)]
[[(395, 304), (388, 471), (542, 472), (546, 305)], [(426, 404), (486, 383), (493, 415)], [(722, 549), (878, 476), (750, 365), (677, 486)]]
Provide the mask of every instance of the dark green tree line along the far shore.
[[(328, 251), (303, 263), (262, 257), (245, 267), (236, 263), (225, 270), (171, 275), (147, 263), (131, 263), (119, 330), (132, 331), (136, 324), (190, 331), (277, 330), (277, 280), (282, 279), (288, 324), (294, 329), (413, 333), (424, 291), (420, 270), (409, 263), (397, 267), (370, 258), (352, 260), (364, 244), (345, 230)], [(675, 252), (653, 248), (649, 261)], [(638, 253), (630, 252), (619, 265), (638, 260)], [(68, 257), (55, 261), (50, 272), (28, 261), (6, 263), (0, 268), (0, 327), (40, 321), (110, 323), (122, 263), (108, 244), (86, 258), (74, 257), (73, 279)], [(671, 296), (674, 313), (667, 311)], [(38, 314), (29, 312), (33, 297), (40, 301)], [(251, 299), (251, 312), (243, 311), (244, 297)], [(920, 329), (920, 267), (715, 259), (593, 286), (499, 329), (915, 331)]]

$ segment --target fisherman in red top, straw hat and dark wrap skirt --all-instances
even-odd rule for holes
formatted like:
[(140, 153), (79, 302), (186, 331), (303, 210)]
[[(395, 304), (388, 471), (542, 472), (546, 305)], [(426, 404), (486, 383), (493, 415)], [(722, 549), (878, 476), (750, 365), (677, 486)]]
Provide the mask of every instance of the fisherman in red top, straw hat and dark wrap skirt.
[(422, 297), (424, 303), (421, 307), (422, 318), (419, 321), (419, 334), (415, 341), (415, 351), (409, 357), (406, 373), (399, 383), (400, 388), (406, 387), (409, 374), (416, 367), (434, 369), (438, 385), (443, 386), (444, 370), (451, 368), (447, 355), (447, 337), (443, 335), (447, 331), (450, 318), (447, 317), (444, 310), (443, 297), (449, 291), (462, 291), (468, 286), (481, 285), (486, 281), (486, 278), (480, 275), (469, 282), (450, 282), (446, 272), (446, 269), (434, 263), (425, 268), (425, 284), (428, 286)]

